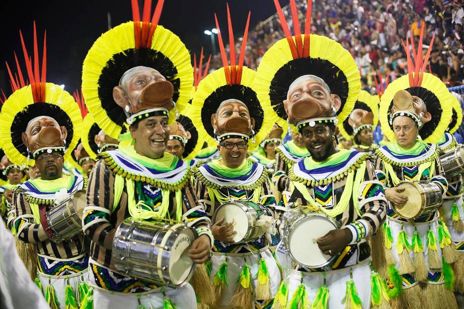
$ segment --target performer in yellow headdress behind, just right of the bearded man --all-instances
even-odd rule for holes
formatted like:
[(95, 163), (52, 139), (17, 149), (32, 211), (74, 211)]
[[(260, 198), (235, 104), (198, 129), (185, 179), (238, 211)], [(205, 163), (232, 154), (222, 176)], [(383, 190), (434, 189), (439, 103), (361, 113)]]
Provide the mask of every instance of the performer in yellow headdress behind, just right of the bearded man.
[(379, 122), (378, 97), (361, 90), (355, 108), (350, 116), (338, 125), (344, 138), (355, 142), (353, 150), (374, 153), (378, 148), (374, 144), (373, 131)]

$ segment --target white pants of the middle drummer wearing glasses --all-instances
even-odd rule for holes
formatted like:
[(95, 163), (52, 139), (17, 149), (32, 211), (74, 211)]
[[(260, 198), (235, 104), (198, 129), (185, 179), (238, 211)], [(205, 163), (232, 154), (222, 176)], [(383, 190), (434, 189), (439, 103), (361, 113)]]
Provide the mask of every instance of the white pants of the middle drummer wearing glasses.
[[(280, 271), (269, 249), (261, 252), (262, 258), (266, 261), (267, 271), (269, 273), (269, 280), (271, 286), (271, 296), (274, 297), (280, 285)], [(258, 285), (258, 268), (259, 268), (259, 254), (246, 256), (248, 266), (250, 266), (251, 284), (253, 287)], [(219, 266), (225, 262), (225, 256), (213, 255), (211, 257), (211, 279), (217, 273)], [(245, 265), (243, 256), (227, 256), (227, 283), (228, 285), (222, 287), (221, 290), (221, 306), (230, 306), (230, 299), (237, 291), (238, 281), (242, 268)], [(261, 299), (260, 299), (261, 300)], [(266, 299), (263, 299), (266, 300)]]

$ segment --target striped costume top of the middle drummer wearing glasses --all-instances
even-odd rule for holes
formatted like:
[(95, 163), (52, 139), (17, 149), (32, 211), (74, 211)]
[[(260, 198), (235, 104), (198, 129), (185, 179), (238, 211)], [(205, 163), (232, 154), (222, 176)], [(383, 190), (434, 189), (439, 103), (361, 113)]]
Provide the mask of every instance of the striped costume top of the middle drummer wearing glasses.
[[(199, 202), (206, 206), (206, 213), (210, 218), (221, 204), (238, 200), (252, 200), (265, 207), (268, 211), (266, 215), (274, 216), (275, 199), (269, 190), (267, 170), (263, 165), (245, 160), (244, 164), (248, 164), (248, 168), (233, 177), (225, 176), (220, 168), (215, 168), (218, 161), (216, 159), (194, 169), (197, 197)], [(212, 252), (249, 255), (267, 248), (268, 245), (265, 235), (247, 243), (226, 243), (215, 240)]]

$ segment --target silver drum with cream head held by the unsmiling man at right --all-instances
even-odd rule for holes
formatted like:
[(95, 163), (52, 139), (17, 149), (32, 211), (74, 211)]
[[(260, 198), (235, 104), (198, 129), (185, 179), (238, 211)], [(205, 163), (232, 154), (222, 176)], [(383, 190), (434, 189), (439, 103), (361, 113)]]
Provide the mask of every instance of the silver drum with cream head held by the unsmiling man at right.
[(401, 181), (396, 188), (404, 188), (401, 193), (408, 197), (403, 206), (392, 203), (393, 210), (403, 219), (412, 219), (436, 211), (442, 203), (440, 186), (428, 181)]

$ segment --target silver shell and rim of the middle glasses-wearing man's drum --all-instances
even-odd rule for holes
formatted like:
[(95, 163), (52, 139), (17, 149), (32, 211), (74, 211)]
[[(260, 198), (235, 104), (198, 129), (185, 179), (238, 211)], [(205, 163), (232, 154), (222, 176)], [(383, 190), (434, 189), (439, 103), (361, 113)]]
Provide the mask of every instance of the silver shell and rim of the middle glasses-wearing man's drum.
[(256, 221), (258, 221), (259, 217), (264, 214), (264, 210), (260, 205), (252, 201), (234, 201), (234, 202), (227, 202), (227, 203), (220, 205), (214, 211), (214, 214), (212, 217), (213, 224), (216, 223), (216, 221), (220, 220), (220, 218), (217, 218), (217, 214), (219, 210), (222, 207), (226, 205), (230, 205), (230, 204), (234, 204), (235, 206), (242, 209), (242, 211), (247, 216), (247, 220), (248, 220), (248, 229), (244, 237), (240, 240), (237, 240), (235, 242), (230, 242), (230, 243), (249, 242), (251, 240), (254, 240), (264, 235), (264, 231), (262, 230), (262, 228), (260, 228), (259, 226), (256, 226)]

